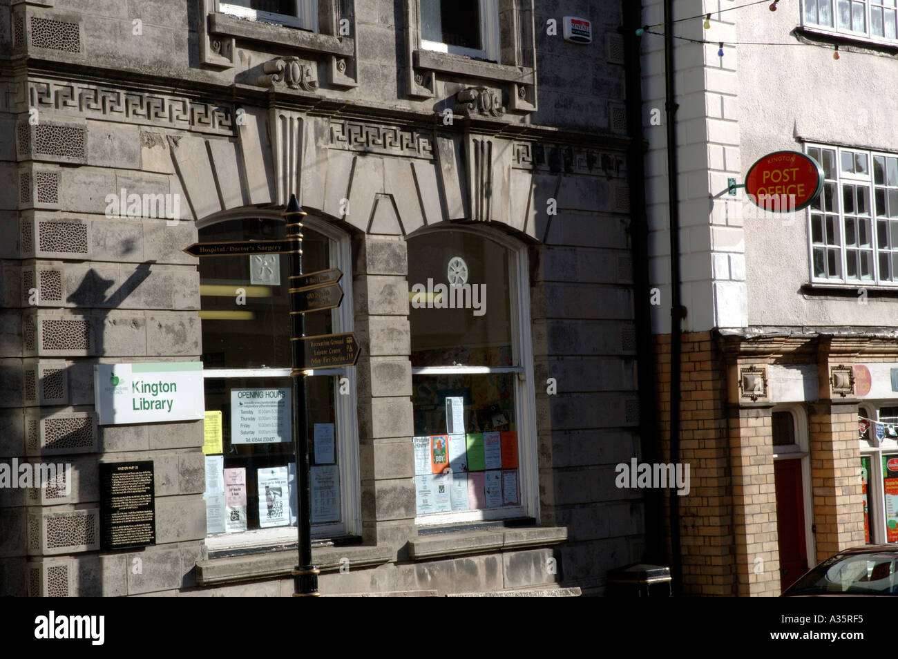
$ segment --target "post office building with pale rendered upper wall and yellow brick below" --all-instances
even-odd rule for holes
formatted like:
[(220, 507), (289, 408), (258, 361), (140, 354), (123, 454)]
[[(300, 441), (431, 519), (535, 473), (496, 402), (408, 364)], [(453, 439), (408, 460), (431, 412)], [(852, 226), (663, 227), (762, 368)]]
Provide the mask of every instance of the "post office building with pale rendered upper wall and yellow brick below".
[[(898, 389), (887, 170), (898, 133), (887, 119), (893, 101), (876, 92), (894, 75), (886, 54), (896, 42), (894, 12), (884, 19), (876, 3), (858, 3), (855, 24), (828, 0), (773, 12), (738, 4), (715, 4), (708, 28), (707, 3), (674, 10), (675, 20), (688, 19), (674, 31), (684, 38), (674, 61), (680, 452), (693, 484), (671, 523), (685, 593), (775, 596), (841, 549), (898, 540), (886, 496)], [(645, 4), (643, 18), (662, 23), (663, 3)], [(643, 37), (647, 114), (664, 109), (664, 42)], [(653, 310), (656, 375), (669, 450), (665, 127), (648, 126), (647, 139), (650, 276), (664, 300)], [(753, 163), (783, 150), (823, 166), (819, 201), (778, 215), (753, 206), (744, 189), (729, 192), (730, 179), (744, 183)]]

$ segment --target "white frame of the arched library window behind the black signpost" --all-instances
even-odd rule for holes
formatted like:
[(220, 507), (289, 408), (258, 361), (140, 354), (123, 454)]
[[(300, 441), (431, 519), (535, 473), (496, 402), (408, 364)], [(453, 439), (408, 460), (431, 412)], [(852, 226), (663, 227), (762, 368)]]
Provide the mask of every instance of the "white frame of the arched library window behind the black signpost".
[[(239, 212), (215, 215), (200, 220), (198, 229), (226, 220), (244, 218), (277, 219), (283, 217), (277, 211), (243, 209)], [(344, 233), (332, 224), (306, 215), (303, 220), (306, 228), (321, 233), (330, 241), (330, 268), (339, 268), (343, 272), (339, 286), (343, 289), (344, 300), (352, 300), (352, 246), (348, 233)], [(334, 332), (351, 332), (353, 330), (352, 304), (343, 303), (330, 310), (331, 326)], [(358, 463), (358, 418), (356, 367), (307, 369), (304, 373), (310, 376), (346, 377), (349, 381), (348, 394), (334, 395), (334, 416), (338, 437), (340, 521), (329, 524), (314, 524), (313, 539), (338, 537), (342, 535), (362, 535), (361, 510), (361, 473)], [(203, 370), (204, 378), (263, 378), (290, 377), (289, 368), (211, 368)], [(336, 381), (339, 383), (339, 379)], [(291, 544), (296, 541), (295, 526), (278, 526), (272, 529), (253, 529), (246, 532), (220, 533), (207, 535), (206, 544), (210, 550), (247, 549), (253, 547), (270, 547), (277, 544)]]

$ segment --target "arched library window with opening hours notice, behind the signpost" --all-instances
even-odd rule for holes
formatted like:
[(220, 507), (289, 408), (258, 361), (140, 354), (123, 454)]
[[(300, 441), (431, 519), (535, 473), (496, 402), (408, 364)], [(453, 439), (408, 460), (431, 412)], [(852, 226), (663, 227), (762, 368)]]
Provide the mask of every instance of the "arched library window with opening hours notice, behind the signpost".
[[(308, 218), (307, 218), (308, 219)], [(348, 237), (307, 221), (304, 271), (348, 273)], [(199, 229), (200, 242), (283, 238), (277, 215), (233, 218)], [(207, 409), (207, 532), (220, 546), (256, 532), (295, 540), (296, 487), (290, 377), (287, 255), (199, 260)], [(351, 299), (352, 277), (340, 286)], [(350, 331), (351, 305), (306, 314), (307, 336)], [(357, 533), (357, 427), (353, 368), (306, 378), (306, 436), (316, 536)], [(282, 528), (283, 527), (283, 528)], [(265, 530), (270, 532), (264, 532)], [(260, 531), (262, 531), (260, 533)], [(210, 547), (216, 545), (210, 538)]]

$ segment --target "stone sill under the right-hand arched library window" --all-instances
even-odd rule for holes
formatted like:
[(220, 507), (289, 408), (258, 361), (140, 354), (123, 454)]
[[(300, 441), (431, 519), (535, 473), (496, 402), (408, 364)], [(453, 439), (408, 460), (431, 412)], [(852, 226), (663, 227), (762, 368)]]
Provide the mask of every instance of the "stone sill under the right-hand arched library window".
[(409, 558), (428, 560), (524, 547), (547, 547), (557, 545), (565, 540), (568, 540), (568, 529), (564, 526), (529, 526), (438, 533), (409, 540)]

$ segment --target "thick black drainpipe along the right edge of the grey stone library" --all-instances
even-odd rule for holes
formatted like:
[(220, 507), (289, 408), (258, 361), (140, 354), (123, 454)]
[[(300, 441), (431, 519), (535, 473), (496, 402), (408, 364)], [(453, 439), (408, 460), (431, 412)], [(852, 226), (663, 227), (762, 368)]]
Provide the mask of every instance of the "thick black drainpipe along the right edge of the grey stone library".
[[(625, 44), (624, 75), (627, 89), (627, 126), (630, 142), (627, 170), (630, 213), (630, 250), (633, 254), (634, 321), (636, 321), (636, 368), (639, 395), (639, 444), (642, 461), (660, 462), (658, 424), (655, 401), (655, 358), (652, 352), (651, 292), (648, 279), (648, 218), (646, 211), (645, 153), (647, 142), (643, 130), (642, 66), (640, 39), (636, 34), (642, 25), (642, 7), (632, 0), (623, 2), (623, 35)], [(644, 491), (646, 505), (647, 563), (664, 563), (664, 528), (662, 492)]]

